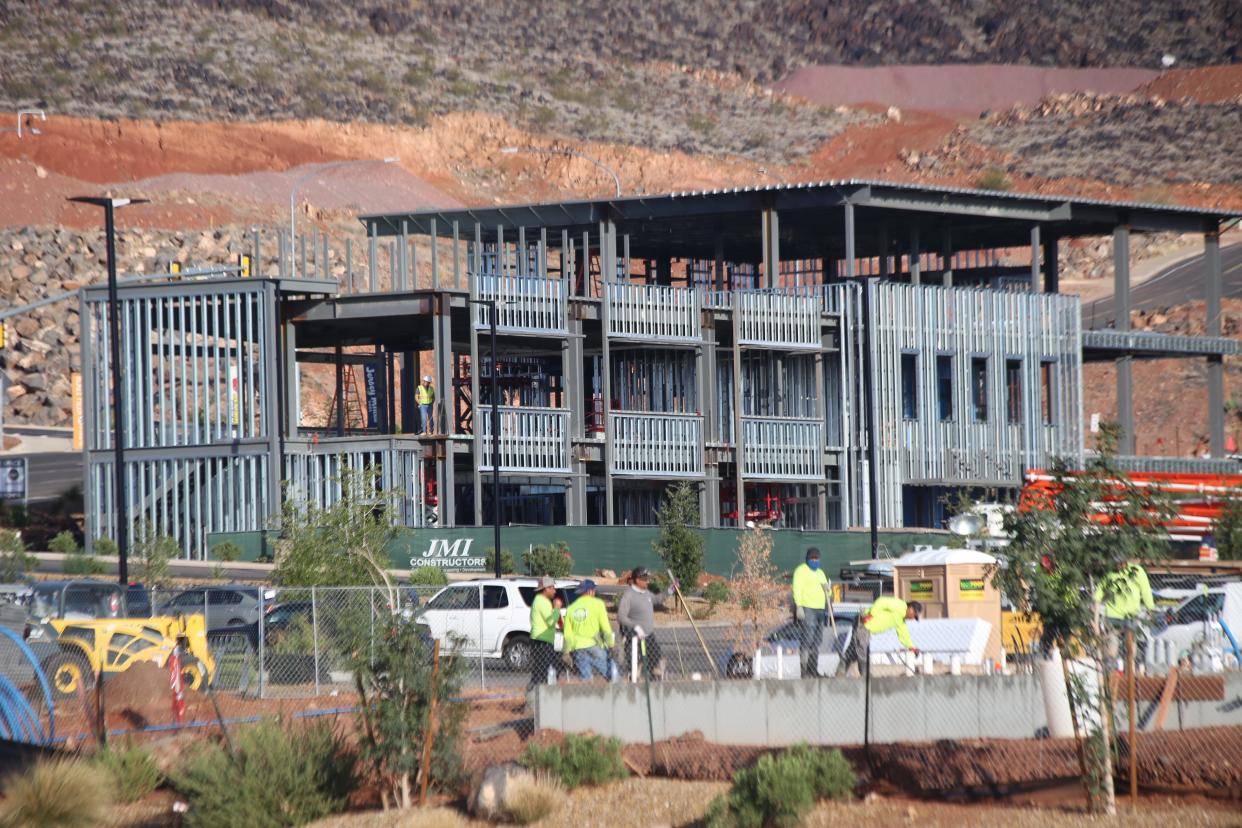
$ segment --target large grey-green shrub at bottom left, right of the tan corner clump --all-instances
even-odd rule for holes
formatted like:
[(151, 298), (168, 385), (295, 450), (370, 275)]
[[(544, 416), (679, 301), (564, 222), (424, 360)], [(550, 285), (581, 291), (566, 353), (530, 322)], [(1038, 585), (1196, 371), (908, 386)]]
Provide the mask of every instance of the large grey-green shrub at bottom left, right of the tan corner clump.
[(356, 757), (325, 722), (292, 727), (272, 719), (194, 754), (173, 785), (190, 804), (191, 828), (302, 826), (345, 809), (356, 787)]

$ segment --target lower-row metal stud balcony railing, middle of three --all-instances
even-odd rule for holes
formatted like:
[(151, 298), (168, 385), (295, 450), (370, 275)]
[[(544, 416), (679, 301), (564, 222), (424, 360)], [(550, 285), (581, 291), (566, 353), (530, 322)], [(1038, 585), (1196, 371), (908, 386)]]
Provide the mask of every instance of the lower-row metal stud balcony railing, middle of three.
[(700, 415), (612, 413), (612, 474), (703, 475)]

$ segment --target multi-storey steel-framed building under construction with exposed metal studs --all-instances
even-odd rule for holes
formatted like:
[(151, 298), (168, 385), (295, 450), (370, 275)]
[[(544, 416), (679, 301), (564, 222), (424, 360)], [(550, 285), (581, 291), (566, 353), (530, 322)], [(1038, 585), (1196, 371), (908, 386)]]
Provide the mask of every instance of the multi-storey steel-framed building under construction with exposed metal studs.
[[(200, 555), (209, 534), (268, 528), (284, 499), (333, 502), (353, 468), (379, 474), (410, 526), (487, 525), (493, 509), (652, 524), (678, 480), (704, 526), (935, 526), (954, 492), (1005, 497), (1026, 469), (1081, 461), (1093, 360), (1117, 364), (1123, 454), (1131, 361), (1207, 360), (1222, 458), (1221, 360), (1238, 351), (1220, 335), (1225, 218), (825, 181), (364, 216), (369, 250), (356, 267), (348, 250), (338, 278), (325, 250), (308, 261), (282, 236), (278, 278), (120, 288), (129, 520)], [(1129, 236), (1154, 231), (1203, 236), (1205, 336), (1129, 330)], [(1058, 292), (1058, 245), (1094, 236), (1117, 251), (1108, 330), (1083, 330)], [(87, 289), (89, 538), (116, 530), (107, 313), (107, 292)], [(335, 392), (310, 423), (315, 364)], [(414, 396), (425, 374), (431, 433)]]

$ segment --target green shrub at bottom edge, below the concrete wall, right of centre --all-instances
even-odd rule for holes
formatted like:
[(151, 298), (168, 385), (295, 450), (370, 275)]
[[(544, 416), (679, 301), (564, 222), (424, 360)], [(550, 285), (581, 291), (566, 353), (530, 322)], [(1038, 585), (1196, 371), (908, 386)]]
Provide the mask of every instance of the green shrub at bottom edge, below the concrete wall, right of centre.
[(795, 745), (734, 773), (729, 792), (712, 802), (704, 822), (709, 828), (800, 826), (816, 802), (847, 799), (856, 783), (840, 750)]

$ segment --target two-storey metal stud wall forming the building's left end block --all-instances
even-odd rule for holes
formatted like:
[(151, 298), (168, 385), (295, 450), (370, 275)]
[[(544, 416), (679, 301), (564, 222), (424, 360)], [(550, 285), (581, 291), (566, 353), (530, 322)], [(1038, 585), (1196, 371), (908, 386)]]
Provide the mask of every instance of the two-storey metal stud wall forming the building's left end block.
[[(274, 293), (270, 283), (135, 286), (118, 302), (130, 538), (156, 533), (199, 557), (206, 536), (267, 525)], [(114, 538), (107, 294), (84, 292), (83, 430), (91, 538)]]

